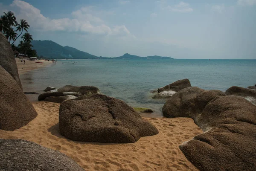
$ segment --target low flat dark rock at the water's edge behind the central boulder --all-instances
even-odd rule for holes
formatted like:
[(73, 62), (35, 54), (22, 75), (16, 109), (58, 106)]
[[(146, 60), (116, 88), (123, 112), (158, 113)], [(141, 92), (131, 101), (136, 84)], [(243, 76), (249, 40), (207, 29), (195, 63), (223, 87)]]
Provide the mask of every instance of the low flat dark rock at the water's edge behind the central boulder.
[(44, 100), (47, 97), (50, 96), (67, 96), (67, 95), (72, 95), (72, 96), (90, 96), (92, 94), (95, 93), (100, 93), (100, 90), (97, 87), (93, 87), (93, 86), (81, 86), (81, 87), (77, 87), (77, 86), (72, 86), (72, 85), (66, 85), (64, 87), (61, 87), (57, 90), (50, 90), (47, 91), (41, 95), (38, 96), (38, 100)]

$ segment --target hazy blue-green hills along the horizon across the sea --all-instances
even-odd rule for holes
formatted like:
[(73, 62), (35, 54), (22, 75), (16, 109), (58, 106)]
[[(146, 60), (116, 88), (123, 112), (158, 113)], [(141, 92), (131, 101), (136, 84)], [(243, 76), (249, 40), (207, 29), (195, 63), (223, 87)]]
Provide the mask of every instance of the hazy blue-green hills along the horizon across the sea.
[(91, 55), (90, 53), (80, 51), (70, 46), (61, 46), (53, 41), (32, 41), (33, 49), (38, 53), (39, 58), (46, 59), (173, 59), (163, 56), (141, 57), (125, 53), (119, 57), (107, 58)]

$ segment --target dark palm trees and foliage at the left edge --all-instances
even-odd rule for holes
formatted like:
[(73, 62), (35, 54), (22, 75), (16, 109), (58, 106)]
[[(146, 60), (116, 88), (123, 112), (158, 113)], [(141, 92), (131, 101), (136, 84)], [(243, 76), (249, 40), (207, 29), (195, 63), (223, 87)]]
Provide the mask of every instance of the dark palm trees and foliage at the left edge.
[[(21, 19), (20, 23), (18, 23), (12, 11), (4, 12), (4, 14), (0, 17), (0, 32), (6, 36), (9, 43), (12, 42), (12, 50), (23, 53), (24, 55), (37, 57), (36, 50), (32, 49), (33, 45), (31, 44), (31, 41), (33, 38), (28, 32), (29, 27), (29, 23), (24, 19)], [(23, 30), (26, 33), (22, 35)], [(18, 32), (20, 32), (19, 35)], [(20, 37), (20, 35), (22, 35), (22, 41), (20, 41), (20, 43), (16, 46), (15, 41)]]

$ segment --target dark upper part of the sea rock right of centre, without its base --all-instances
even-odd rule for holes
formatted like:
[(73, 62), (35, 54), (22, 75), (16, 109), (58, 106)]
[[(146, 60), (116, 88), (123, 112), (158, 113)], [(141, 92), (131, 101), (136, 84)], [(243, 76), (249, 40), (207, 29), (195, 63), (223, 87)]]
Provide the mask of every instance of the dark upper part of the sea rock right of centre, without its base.
[(178, 92), (183, 88), (187, 88), (187, 87), (191, 87), (189, 79), (178, 80), (172, 84), (166, 85), (165, 87), (159, 88), (158, 93), (162, 91), (169, 91), (169, 90)]

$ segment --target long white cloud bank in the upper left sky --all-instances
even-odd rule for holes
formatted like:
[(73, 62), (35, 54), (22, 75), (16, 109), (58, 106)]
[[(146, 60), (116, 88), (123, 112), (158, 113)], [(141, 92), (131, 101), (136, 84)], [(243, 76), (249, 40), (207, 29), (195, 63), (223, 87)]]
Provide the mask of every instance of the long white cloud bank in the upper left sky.
[[(15, 12), (17, 20), (24, 18), (29, 22), (32, 29), (38, 31), (68, 31), (99, 35), (133, 36), (124, 26), (107, 26), (96, 14), (102, 12), (93, 11), (93, 6), (82, 7), (72, 12), (67, 18), (51, 19), (44, 17), (41, 11), (29, 3), (14, 0), (10, 5)], [(109, 14), (113, 14), (112, 12)]]

